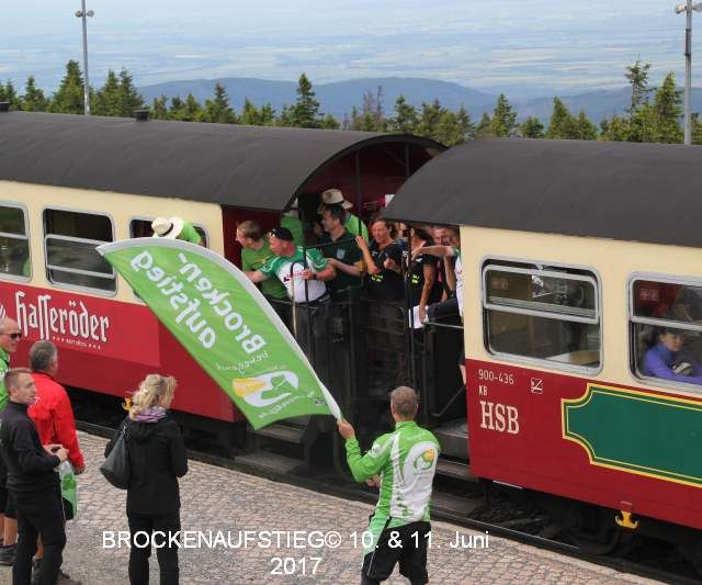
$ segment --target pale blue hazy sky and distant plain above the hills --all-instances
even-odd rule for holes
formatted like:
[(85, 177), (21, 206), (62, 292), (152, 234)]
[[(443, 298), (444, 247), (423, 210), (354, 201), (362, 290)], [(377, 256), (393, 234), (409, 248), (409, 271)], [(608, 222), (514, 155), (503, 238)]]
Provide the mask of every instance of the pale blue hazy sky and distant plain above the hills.
[[(125, 67), (137, 85), (257, 77), (428, 77), (534, 95), (613, 88), (637, 57), (682, 82), (675, 0), (86, 0), (91, 83)], [(678, 0), (682, 1), (682, 0)], [(0, 81), (55, 89), (82, 59), (80, 0), (3, 0)], [(701, 26), (693, 58), (702, 54)], [(694, 31), (693, 31), (694, 32)], [(82, 61), (81, 61), (82, 63)], [(693, 85), (695, 80), (693, 61)], [(702, 75), (702, 71), (700, 71)]]

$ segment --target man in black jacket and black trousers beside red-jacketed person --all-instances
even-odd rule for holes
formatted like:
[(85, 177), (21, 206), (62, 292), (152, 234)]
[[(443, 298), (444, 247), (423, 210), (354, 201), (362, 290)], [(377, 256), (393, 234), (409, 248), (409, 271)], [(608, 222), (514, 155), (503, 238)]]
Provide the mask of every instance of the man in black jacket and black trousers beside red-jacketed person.
[(29, 585), (37, 536), (44, 543), (39, 583), (54, 585), (66, 545), (64, 509), (55, 468), (68, 458), (60, 445), (42, 446), (26, 409), (36, 398), (31, 370), (14, 368), (4, 376), (10, 396), (0, 413), (0, 451), (8, 470), (8, 491), (18, 515), (20, 538), (12, 566), (13, 585)]

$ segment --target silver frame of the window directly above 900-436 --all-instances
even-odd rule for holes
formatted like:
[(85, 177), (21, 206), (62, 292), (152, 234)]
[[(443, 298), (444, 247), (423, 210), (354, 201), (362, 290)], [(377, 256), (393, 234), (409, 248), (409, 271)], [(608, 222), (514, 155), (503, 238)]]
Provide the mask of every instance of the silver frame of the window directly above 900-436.
[[(582, 270), (587, 271), (592, 275), (586, 274), (571, 274), (564, 273), (557, 270), (544, 270), (539, 268), (521, 268), (516, 266), (508, 266), (506, 263), (495, 263), (495, 262), (512, 262), (520, 265), (533, 265), (535, 267), (553, 267), (553, 268), (564, 268), (570, 270)], [(566, 313), (550, 313), (547, 311), (539, 311), (532, 308), (521, 308), (521, 307), (511, 307), (507, 305), (500, 305), (495, 303), (488, 303), (488, 288), (487, 288), (487, 273), (489, 270), (501, 270), (512, 273), (519, 274), (530, 274), (530, 275), (544, 275), (547, 278), (567, 278), (568, 280), (577, 280), (580, 282), (590, 282), (595, 286), (595, 316), (593, 317), (584, 317), (577, 315), (568, 315)], [(575, 307), (571, 307), (575, 308)], [(586, 325), (597, 325), (600, 334), (600, 348), (598, 350), (599, 353), (599, 363), (595, 367), (592, 365), (575, 365), (571, 363), (562, 363), (558, 361), (553, 361), (546, 358), (534, 358), (529, 356), (519, 356), (516, 353), (506, 353), (502, 351), (496, 351), (490, 346), (489, 340), (489, 328), (488, 328), (488, 311), (501, 311), (503, 313), (511, 313), (518, 315), (525, 315), (532, 317), (542, 317), (550, 318), (556, 320), (565, 320), (570, 323), (582, 323)], [(480, 260), (480, 313), (482, 313), (482, 324), (483, 324), (483, 348), (485, 351), (495, 358), (500, 360), (505, 360), (508, 362), (528, 364), (528, 365), (537, 365), (542, 369), (557, 370), (569, 373), (577, 374), (587, 374), (588, 376), (593, 376), (599, 374), (604, 367), (604, 326), (603, 326), (603, 315), (602, 315), (602, 279), (600, 273), (592, 267), (582, 266), (577, 263), (564, 263), (564, 262), (554, 262), (551, 260), (534, 260), (534, 259), (525, 259), (525, 258), (513, 258), (513, 257), (505, 257), (505, 256), (485, 256)]]

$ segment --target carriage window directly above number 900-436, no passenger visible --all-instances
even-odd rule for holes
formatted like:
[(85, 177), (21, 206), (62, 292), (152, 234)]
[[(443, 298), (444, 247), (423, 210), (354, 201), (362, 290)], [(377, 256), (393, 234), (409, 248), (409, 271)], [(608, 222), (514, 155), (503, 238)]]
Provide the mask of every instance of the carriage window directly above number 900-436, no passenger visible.
[(599, 286), (592, 272), (490, 260), (483, 269), (483, 308), (491, 353), (599, 369)]

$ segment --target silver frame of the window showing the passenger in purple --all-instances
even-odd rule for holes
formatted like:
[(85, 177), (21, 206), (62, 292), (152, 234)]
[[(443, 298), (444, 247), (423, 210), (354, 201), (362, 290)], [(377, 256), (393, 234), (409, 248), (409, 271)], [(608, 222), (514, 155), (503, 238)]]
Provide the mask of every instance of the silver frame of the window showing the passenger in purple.
[(702, 325), (693, 325), (683, 322), (668, 320), (656, 317), (636, 317), (634, 315), (634, 284), (637, 281), (660, 282), (663, 284), (680, 284), (682, 286), (698, 286), (702, 289), (702, 279), (693, 277), (679, 277), (675, 274), (660, 272), (632, 272), (626, 282), (627, 289), (627, 306), (626, 306), (626, 353), (629, 361), (629, 373), (637, 383), (645, 383), (666, 390), (691, 392), (695, 395), (702, 394), (702, 385), (688, 384), (686, 382), (673, 382), (672, 380), (664, 380), (652, 375), (644, 375), (636, 368), (636, 348), (634, 347), (634, 327), (635, 325), (652, 325), (661, 327), (672, 325), (676, 329), (684, 329), (689, 331), (699, 331), (702, 334)]

